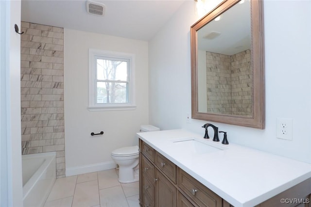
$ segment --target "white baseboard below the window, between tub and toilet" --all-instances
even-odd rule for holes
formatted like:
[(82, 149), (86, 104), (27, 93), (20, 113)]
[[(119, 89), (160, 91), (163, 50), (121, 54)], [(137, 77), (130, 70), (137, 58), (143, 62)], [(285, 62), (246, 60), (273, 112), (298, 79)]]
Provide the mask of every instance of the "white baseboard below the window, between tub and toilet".
[(78, 167), (66, 168), (66, 177), (71, 175), (80, 175), (85, 173), (93, 173), (102, 170), (110, 170), (116, 168), (116, 163), (114, 161), (83, 165)]

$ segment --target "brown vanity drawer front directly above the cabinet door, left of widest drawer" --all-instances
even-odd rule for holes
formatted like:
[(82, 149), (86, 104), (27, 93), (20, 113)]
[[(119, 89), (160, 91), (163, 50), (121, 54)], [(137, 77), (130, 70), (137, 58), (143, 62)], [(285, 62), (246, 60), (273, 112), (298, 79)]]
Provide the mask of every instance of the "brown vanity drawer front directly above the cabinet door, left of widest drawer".
[(176, 183), (176, 165), (163, 155), (155, 152), (155, 165), (167, 175), (174, 183)]

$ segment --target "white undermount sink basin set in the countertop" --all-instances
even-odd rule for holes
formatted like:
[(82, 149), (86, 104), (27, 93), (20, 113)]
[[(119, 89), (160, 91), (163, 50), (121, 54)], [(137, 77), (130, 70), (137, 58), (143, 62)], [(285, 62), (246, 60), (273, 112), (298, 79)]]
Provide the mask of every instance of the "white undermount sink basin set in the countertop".
[(200, 142), (194, 139), (187, 140), (173, 140), (174, 146), (178, 147), (179, 150), (187, 150), (195, 154), (206, 154), (211, 152), (218, 152), (224, 149), (219, 147), (211, 146), (207, 143)]

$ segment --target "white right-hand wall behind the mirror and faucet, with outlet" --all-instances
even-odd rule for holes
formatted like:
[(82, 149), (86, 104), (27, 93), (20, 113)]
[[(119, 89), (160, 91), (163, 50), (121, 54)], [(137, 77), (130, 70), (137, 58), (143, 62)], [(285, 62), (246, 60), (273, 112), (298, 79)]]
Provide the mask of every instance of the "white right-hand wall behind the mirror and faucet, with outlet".
[[(200, 18), (195, 13), (195, 2), (186, 1), (149, 43), (149, 119), (161, 129), (186, 128), (203, 136), (208, 121), (186, 123), (190, 26)], [(311, 1), (264, 0), (264, 19), (266, 127), (214, 124), (227, 131), (229, 143), (311, 163)], [(276, 138), (277, 117), (293, 118), (293, 141)]]

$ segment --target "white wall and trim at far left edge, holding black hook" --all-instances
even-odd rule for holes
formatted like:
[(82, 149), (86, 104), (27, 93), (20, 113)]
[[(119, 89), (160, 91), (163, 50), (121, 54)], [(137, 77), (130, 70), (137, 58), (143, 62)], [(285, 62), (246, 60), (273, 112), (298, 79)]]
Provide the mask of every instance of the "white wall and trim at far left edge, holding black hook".
[(20, 0), (0, 2), (0, 206), (22, 207)]

